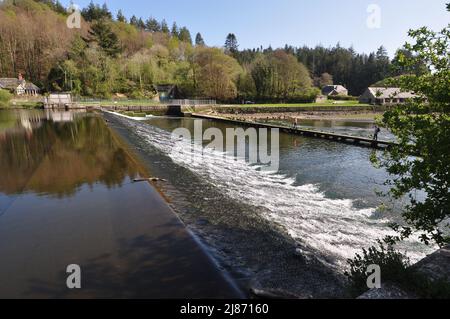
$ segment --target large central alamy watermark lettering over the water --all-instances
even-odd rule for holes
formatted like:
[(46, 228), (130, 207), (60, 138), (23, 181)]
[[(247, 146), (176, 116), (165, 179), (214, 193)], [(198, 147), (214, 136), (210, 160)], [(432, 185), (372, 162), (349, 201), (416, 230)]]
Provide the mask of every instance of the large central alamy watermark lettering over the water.
[[(279, 129), (271, 129), (269, 134), (267, 128), (227, 128), (224, 136), (219, 128), (208, 128), (203, 132), (203, 121), (196, 120), (193, 136), (187, 128), (177, 128), (172, 132), (172, 140), (175, 142), (172, 155), (189, 155), (193, 163), (201, 164), (206, 159), (205, 150), (209, 149), (222, 153), (223, 157), (235, 155), (236, 159), (245, 160), (248, 164), (261, 165), (262, 171), (276, 172), (279, 169)], [(189, 146), (187, 141), (191, 141)], [(205, 143), (209, 144), (204, 146)], [(217, 161), (221, 157), (209, 157), (208, 160)]]

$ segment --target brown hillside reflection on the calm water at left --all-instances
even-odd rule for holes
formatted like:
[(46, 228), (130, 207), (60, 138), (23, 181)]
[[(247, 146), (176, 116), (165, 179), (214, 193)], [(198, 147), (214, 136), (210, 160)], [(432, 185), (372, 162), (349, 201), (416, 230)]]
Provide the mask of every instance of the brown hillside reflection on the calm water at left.
[(0, 192), (72, 196), (86, 184), (120, 186), (137, 165), (98, 116), (0, 112)]

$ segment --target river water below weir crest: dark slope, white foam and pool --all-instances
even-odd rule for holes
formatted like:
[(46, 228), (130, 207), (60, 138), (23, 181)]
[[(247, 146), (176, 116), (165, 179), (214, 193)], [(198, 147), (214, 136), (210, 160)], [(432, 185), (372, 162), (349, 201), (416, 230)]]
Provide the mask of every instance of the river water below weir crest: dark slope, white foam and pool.
[[(161, 187), (169, 197), (173, 194), (174, 208), (216, 256), (244, 271), (243, 277), (258, 278), (264, 287), (297, 291), (293, 285), (304, 285), (317, 295), (326, 290), (324, 281), (317, 280), (318, 287), (313, 287), (313, 279), (293, 279), (296, 273), (342, 274), (348, 258), (393, 234), (389, 223), (400, 221), (402, 202), (392, 203), (376, 193), (387, 190), (383, 182), (388, 175), (370, 163), (371, 149), (281, 134), (280, 167), (268, 173), (235, 154), (224, 156), (209, 148), (194, 148), (199, 154), (193, 161), (190, 140), (184, 141), (189, 151), (174, 152), (172, 131), (183, 127), (194, 135), (194, 119), (108, 118), (152, 171), (169, 181)], [(218, 128), (224, 135), (230, 127), (214, 121), (203, 121), (202, 126), (204, 131)], [(346, 133), (361, 129), (345, 126)], [(369, 130), (368, 124), (364, 129)], [(391, 204), (392, 210), (377, 209), (381, 204)], [(300, 261), (295, 260), (296, 247), (302, 252)], [(400, 248), (413, 261), (432, 252), (414, 240)], [(338, 286), (329, 285), (331, 290)]]

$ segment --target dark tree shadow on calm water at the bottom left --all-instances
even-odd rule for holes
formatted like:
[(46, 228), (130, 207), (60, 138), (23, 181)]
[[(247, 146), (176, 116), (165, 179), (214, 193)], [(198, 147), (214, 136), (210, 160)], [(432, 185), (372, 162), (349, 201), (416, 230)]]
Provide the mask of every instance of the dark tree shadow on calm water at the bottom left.
[[(164, 229), (173, 224), (162, 225)], [(158, 230), (156, 230), (158, 232)], [(204, 276), (204, 269), (195, 267), (197, 260), (186, 254), (182, 234), (142, 235), (119, 240), (115, 253), (99, 255), (84, 262), (82, 289), (69, 290), (63, 283), (68, 276), (60, 272), (57, 282), (30, 279), (25, 296), (46, 298), (230, 298), (229, 289), (220, 289), (217, 280)], [(168, 252), (170, 258), (168, 258)], [(193, 281), (197, 278), (198, 281)], [(218, 291), (211, 291), (216, 284)], [(205, 287), (207, 287), (205, 289)], [(223, 287), (222, 287), (223, 288)]]

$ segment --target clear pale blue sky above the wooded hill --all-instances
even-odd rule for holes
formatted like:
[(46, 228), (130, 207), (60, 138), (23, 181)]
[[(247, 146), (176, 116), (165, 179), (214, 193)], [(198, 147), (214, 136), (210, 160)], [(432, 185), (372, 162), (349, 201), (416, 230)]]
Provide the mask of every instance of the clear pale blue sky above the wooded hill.
[[(68, 4), (70, 1), (64, 0)], [(74, 0), (85, 7), (90, 0)], [(103, 4), (104, 0), (96, 0)], [(108, 0), (114, 13), (127, 17), (166, 19), (201, 32), (208, 45), (222, 46), (228, 33), (236, 34), (240, 48), (259, 46), (324, 46), (340, 43), (358, 52), (384, 45), (390, 55), (407, 40), (410, 28), (442, 29), (450, 23), (448, 0)], [(367, 27), (367, 8), (381, 9), (381, 28)]]

